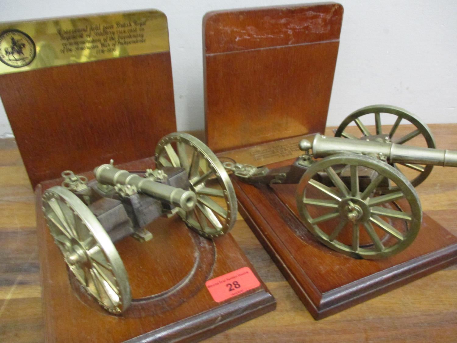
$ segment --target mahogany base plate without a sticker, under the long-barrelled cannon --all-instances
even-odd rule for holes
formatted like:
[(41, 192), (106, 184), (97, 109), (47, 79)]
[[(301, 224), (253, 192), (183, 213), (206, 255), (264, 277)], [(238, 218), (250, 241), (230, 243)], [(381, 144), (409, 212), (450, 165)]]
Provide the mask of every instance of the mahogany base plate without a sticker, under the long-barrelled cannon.
[(426, 213), (419, 235), (403, 252), (357, 260), (325, 247), (306, 230), (295, 204), (297, 185), (232, 180), (239, 212), (315, 319), (457, 262), (457, 237)]

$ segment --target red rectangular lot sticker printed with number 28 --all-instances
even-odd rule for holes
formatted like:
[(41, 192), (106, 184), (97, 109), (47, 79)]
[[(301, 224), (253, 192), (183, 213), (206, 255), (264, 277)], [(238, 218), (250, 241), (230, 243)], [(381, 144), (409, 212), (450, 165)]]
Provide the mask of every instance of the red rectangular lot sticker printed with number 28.
[(234, 272), (208, 280), (205, 285), (214, 301), (222, 302), (235, 295), (259, 287), (260, 282), (250, 268), (243, 267)]

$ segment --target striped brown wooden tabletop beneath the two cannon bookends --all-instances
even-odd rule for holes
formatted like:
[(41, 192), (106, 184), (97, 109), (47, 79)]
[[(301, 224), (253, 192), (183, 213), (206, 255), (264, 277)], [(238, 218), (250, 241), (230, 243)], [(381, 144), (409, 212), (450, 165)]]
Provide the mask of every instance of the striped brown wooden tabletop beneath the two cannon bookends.
[[(429, 126), (438, 148), (457, 150), (457, 124)], [(417, 192), (424, 211), (457, 235), (457, 169), (435, 167)], [(316, 322), (241, 216), (232, 235), (276, 297), (277, 309), (207, 342), (457, 342), (456, 266)], [(0, 341), (44, 340), (39, 272), (32, 188), (14, 139), (1, 139)]]

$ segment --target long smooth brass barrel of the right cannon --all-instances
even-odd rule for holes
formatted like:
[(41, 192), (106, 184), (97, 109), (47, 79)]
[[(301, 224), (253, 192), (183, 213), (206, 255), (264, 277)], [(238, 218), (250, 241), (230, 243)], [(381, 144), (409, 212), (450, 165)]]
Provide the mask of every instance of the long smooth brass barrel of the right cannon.
[(306, 139), (299, 143), (302, 150), (312, 148), (314, 157), (340, 153), (383, 154), (389, 163), (416, 163), (434, 166), (457, 167), (457, 151), (420, 148), (390, 142), (366, 141), (341, 137), (314, 136), (313, 143)]

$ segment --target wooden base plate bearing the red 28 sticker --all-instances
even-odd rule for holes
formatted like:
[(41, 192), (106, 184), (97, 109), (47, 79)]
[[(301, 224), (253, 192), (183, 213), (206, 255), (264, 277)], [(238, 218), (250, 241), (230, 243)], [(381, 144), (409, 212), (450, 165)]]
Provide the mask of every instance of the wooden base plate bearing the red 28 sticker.
[[(121, 167), (151, 166), (152, 159), (145, 159)], [(275, 309), (276, 301), (261, 281), (255, 289), (214, 301), (205, 286), (208, 279), (243, 267), (260, 278), (232, 236), (207, 240), (175, 216), (147, 227), (154, 236), (151, 241), (127, 237), (116, 243), (133, 301), (122, 316), (109, 314), (68, 271), (46, 226), (41, 197), (60, 182), (42, 182), (35, 191), (47, 341), (197, 341)]]

